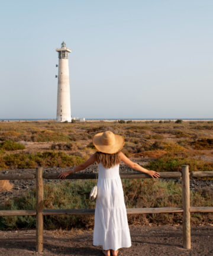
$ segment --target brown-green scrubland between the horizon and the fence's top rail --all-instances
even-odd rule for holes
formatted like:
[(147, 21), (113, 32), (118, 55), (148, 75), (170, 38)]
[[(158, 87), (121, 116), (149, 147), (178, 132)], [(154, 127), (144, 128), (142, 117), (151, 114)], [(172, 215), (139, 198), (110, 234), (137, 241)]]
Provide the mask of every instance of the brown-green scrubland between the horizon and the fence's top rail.
[(191, 171), (213, 167), (212, 121), (13, 122), (0, 124), (0, 168), (69, 167), (88, 158), (95, 133), (111, 130), (125, 137), (129, 158), (147, 159), (157, 171)]

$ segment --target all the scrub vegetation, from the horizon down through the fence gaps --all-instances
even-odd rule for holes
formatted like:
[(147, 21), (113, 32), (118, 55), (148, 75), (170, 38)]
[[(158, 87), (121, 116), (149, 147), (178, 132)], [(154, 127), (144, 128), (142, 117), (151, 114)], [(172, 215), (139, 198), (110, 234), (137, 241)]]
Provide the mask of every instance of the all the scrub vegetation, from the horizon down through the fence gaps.
[[(95, 148), (93, 135), (111, 130), (125, 138), (122, 149), (129, 158), (155, 171), (179, 171), (188, 164), (190, 171), (213, 171), (212, 121), (96, 121), (56, 123), (54, 121), (0, 123), (0, 171), (6, 169), (72, 167), (89, 158)], [(17, 170), (15, 171), (17, 172)], [(122, 180), (127, 207), (166, 207), (181, 205), (180, 184), (174, 181)], [(93, 180), (45, 184), (47, 209), (94, 208), (89, 200)], [(10, 190), (1, 181), (0, 190)], [(212, 206), (212, 191), (191, 191), (192, 206)], [(35, 191), (9, 200), (4, 209), (35, 209)], [(181, 223), (182, 215), (129, 215), (132, 224)], [(212, 222), (212, 215), (192, 214), (192, 223)], [(44, 216), (44, 228), (91, 228), (93, 216)], [(1, 217), (1, 229), (34, 228), (35, 217)]]

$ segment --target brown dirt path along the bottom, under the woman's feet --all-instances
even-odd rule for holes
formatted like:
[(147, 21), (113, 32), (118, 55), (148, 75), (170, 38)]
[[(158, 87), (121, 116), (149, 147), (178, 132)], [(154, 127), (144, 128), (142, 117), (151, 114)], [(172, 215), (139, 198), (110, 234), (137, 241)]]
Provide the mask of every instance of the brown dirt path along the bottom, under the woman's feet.
[[(192, 226), (192, 249), (182, 247), (182, 226), (130, 226), (132, 246), (118, 255), (188, 256), (213, 255), (213, 226)], [(93, 246), (93, 231), (44, 231), (44, 251), (35, 252), (35, 230), (0, 231), (1, 256), (28, 255), (104, 255), (101, 246)]]

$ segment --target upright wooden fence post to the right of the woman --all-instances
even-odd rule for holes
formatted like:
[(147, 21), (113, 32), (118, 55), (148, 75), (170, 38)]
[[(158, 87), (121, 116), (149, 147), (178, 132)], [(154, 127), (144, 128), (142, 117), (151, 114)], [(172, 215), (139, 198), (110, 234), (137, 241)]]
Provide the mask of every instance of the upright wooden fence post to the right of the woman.
[(189, 165), (182, 165), (183, 248), (191, 249)]

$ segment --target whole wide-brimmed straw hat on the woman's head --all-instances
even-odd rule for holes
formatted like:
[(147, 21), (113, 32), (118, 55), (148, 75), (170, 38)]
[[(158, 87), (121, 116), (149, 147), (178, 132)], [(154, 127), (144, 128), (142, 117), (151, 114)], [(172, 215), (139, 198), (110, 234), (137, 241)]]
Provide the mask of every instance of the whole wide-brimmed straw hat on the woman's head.
[(112, 154), (121, 151), (124, 146), (124, 137), (115, 135), (113, 132), (106, 131), (97, 133), (93, 137), (92, 143), (98, 151)]

